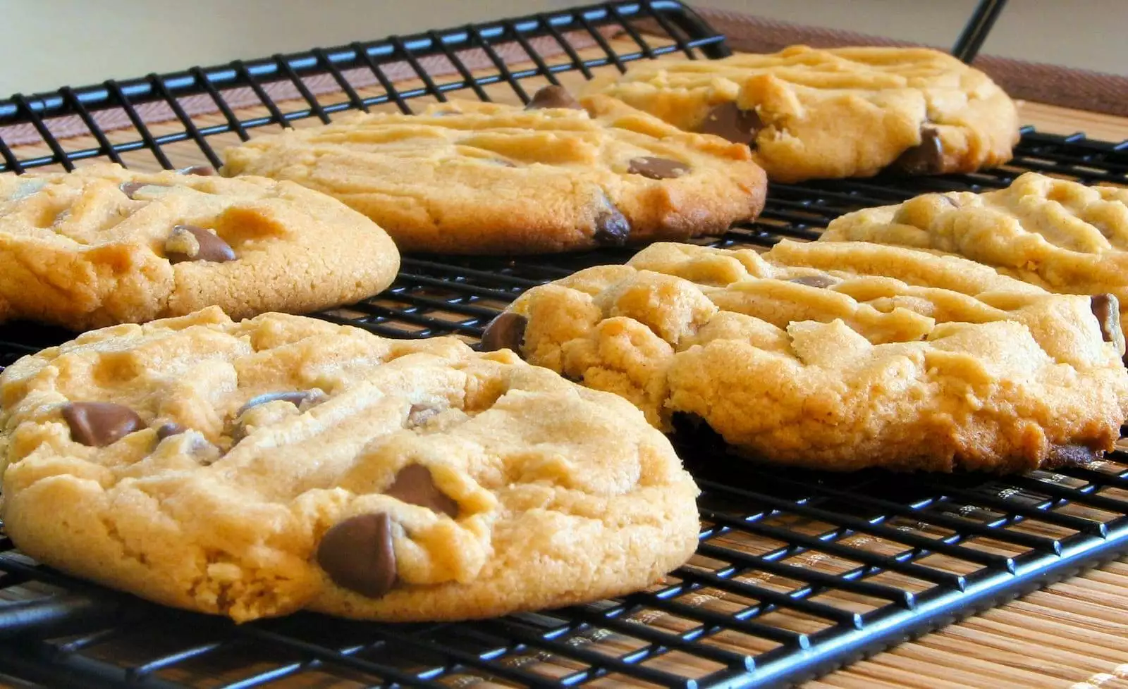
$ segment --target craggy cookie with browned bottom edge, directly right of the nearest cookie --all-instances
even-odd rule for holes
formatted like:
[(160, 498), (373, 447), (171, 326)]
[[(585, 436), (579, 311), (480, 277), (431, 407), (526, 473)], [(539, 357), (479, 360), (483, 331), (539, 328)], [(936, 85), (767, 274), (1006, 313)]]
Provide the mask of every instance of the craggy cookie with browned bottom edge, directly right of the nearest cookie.
[(1119, 438), (1128, 371), (1091, 306), (899, 247), (658, 244), (534, 288), (485, 341), (775, 462), (1019, 471)]

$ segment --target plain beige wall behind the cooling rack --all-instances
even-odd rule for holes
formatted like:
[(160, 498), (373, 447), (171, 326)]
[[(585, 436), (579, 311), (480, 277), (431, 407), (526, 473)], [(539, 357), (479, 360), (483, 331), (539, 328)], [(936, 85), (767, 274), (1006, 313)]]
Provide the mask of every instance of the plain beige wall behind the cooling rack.
[[(0, 98), (578, 3), (582, 0), (0, 0)], [(951, 46), (976, 0), (689, 3)], [(1128, 74), (1126, 33), (1128, 0), (1011, 0), (984, 52)]]

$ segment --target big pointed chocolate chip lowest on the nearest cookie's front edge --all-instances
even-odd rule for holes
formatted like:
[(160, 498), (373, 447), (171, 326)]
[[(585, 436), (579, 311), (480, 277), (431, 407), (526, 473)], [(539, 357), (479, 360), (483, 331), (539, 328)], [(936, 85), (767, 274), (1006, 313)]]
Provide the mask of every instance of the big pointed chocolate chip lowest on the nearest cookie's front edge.
[(396, 583), (391, 518), (378, 512), (337, 523), (321, 537), (317, 564), (336, 585), (380, 598)]

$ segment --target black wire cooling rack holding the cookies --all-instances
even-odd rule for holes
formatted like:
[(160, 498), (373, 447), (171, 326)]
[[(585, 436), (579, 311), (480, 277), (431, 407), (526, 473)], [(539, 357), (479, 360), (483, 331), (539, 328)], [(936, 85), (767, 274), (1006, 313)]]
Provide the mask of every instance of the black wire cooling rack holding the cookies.
[[(970, 59), (1002, 2), (955, 54)], [(666, 54), (719, 58), (723, 36), (677, 2), (625, 2), (233, 62), (0, 101), (0, 170), (218, 164), (218, 143), (352, 108), (527, 100), (545, 82)], [(214, 144), (213, 144), (214, 143)], [(1128, 183), (1125, 144), (1023, 132), (973, 175), (773, 185), (755, 224), (715, 245), (813, 239), (835, 217), (1024, 170)], [(521, 291), (628, 250), (409, 256), (384, 294), (318, 316), (394, 337), (476, 338)], [(0, 363), (69, 338), (0, 328)], [(767, 687), (800, 681), (1128, 550), (1128, 453), (1086, 467), (976, 475), (820, 475), (675, 436), (698, 478), (696, 556), (650, 591), (470, 624), (377, 625), (300, 613), (236, 626), (38, 566), (0, 540), (0, 672), (49, 687)]]

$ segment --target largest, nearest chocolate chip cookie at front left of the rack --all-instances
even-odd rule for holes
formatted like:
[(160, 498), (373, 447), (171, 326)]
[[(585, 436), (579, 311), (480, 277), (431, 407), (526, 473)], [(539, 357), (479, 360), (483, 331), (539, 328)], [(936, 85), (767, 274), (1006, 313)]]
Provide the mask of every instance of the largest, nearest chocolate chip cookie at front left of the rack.
[(697, 544), (697, 487), (637, 409), (455, 338), (209, 308), (24, 357), (0, 398), (20, 550), (240, 621), (580, 603)]

